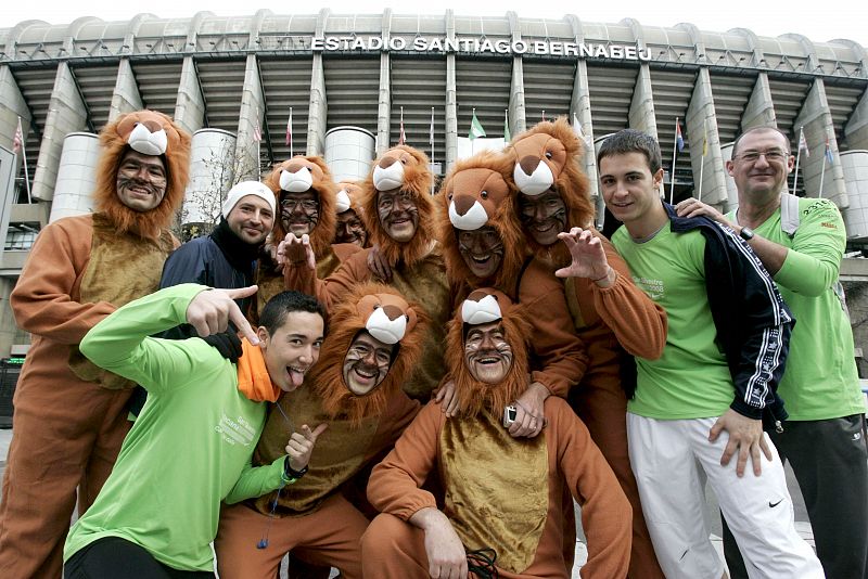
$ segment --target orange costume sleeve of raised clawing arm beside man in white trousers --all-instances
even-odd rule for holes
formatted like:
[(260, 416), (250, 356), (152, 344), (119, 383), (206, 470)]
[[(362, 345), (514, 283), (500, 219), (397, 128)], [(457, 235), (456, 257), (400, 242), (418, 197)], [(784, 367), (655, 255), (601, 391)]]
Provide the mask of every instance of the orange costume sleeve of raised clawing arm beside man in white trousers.
[(601, 240), (609, 265), (617, 272), (615, 283), (601, 288), (589, 282), (593, 307), (621, 346), (634, 356), (656, 360), (666, 345), (666, 311), (639, 290), (614, 245)]

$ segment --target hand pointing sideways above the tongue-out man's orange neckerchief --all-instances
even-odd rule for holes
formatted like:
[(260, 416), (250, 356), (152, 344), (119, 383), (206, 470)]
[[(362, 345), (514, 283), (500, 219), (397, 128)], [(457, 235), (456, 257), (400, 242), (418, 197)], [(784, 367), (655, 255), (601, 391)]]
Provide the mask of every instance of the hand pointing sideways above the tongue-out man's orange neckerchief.
[(257, 286), (238, 290), (206, 290), (200, 292), (187, 306), (187, 323), (192, 325), (201, 337), (226, 332), (229, 322), (246, 337), (251, 344), (259, 344), (256, 332), (235, 304), (235, 299), (250, 297), (256, 293)]

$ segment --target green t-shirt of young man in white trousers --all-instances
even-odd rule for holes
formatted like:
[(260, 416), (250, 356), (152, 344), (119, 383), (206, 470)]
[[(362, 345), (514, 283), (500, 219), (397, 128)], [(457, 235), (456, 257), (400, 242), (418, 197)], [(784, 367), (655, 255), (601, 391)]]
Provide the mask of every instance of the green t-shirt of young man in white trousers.
[(705, 237), (699, 230), (675, 234), (666, 221), (641, 243), (622, 227), (612, 243), (636, 285), (669, 319), (663, 356), (636, 358), (638, 385), (627, 410), (662, 420), (720, 416), (732, 403), (735, 388), (726, 358), (715, 344), (717, 330), (705, 292)]

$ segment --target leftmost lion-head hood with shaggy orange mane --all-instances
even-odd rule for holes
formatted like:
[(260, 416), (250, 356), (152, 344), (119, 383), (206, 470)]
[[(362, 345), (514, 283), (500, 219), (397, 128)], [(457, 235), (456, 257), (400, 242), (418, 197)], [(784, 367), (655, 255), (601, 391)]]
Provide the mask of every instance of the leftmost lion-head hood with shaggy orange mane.
[[(190, 136), (156, 111), (138, 111), (110, 123), (100, 133), (103, 153), (97, 167), (94, 209), (114, 223), (118, 233), (156, 239), (169, 227), (183, 202), (190, 171)], [(117, 196), (117, 171), (127, 151), (159, 156), (166, 169), (166, 193), (150, 211), (137, 211)]]

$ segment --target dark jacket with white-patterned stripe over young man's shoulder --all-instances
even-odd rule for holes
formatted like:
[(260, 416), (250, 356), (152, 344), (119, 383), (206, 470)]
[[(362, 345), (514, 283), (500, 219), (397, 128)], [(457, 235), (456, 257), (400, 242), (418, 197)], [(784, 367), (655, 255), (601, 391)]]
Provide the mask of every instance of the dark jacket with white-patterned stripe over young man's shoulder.
[(664, 203), (674, 233), (699, 229), (705, 237), (705, 287), (736, 397), (730, 408), (766, 427), (787, 417), (777, 389), (795, 323), (760, 258), (732, 229), (705, 217), (678, 217)]

